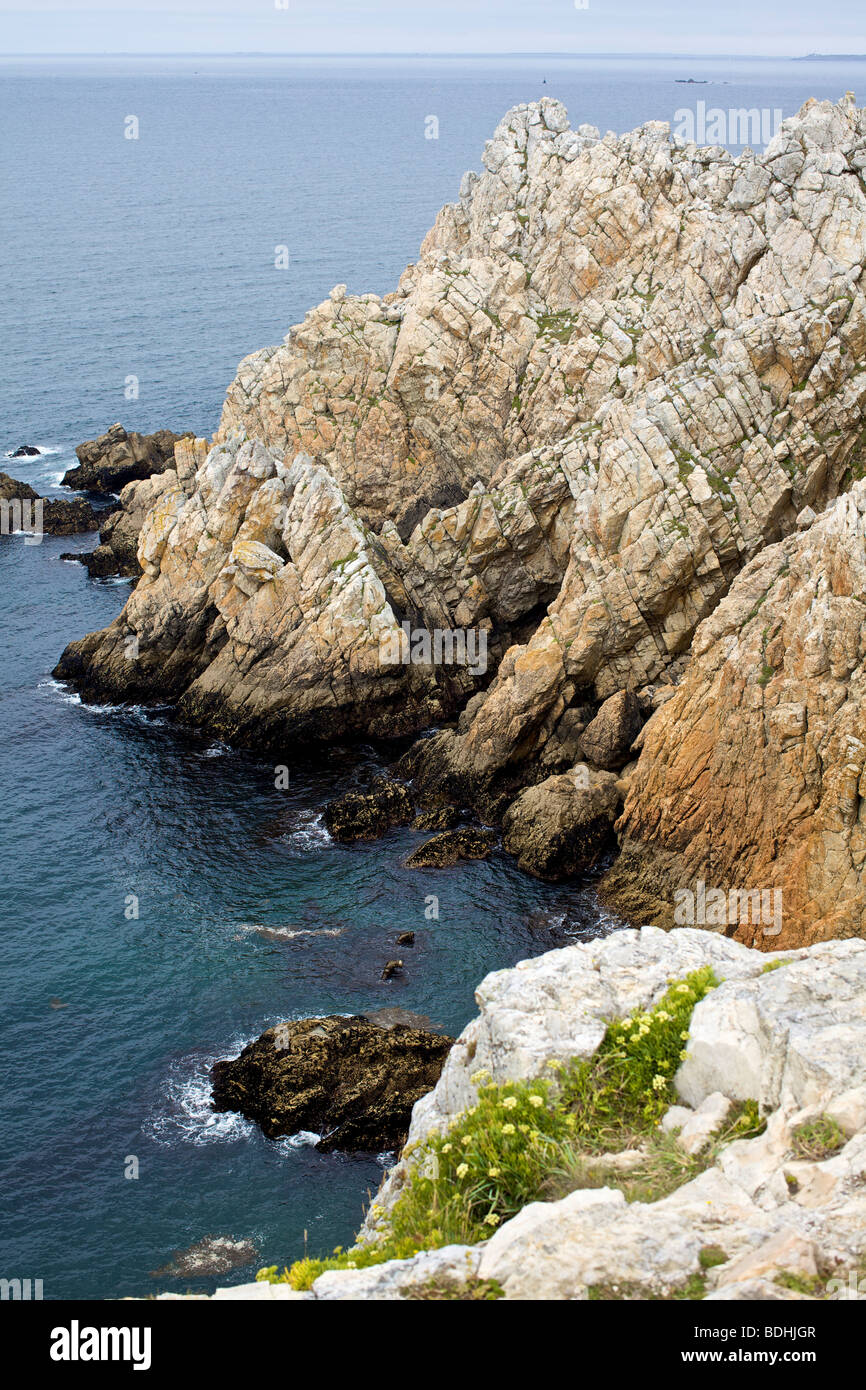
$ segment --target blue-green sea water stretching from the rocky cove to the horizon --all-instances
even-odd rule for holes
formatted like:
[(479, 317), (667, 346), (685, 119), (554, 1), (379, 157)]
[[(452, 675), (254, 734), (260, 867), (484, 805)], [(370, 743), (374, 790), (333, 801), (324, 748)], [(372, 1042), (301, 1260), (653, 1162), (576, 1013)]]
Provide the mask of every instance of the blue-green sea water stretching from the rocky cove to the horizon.
[[(114, 420), (210, 434), (245, 353), (338, 281), (393, 288), (517, 101), (559, 96), (574, 124), (624, 131), (698, 100), (788, 115), (865, 78), (699, 58), (3, 63), (0, 453), (51, 452), (0, 467), (60, 493), (74, 445)], [(271, 764), (165, 710), (83, 706), (49, 673), (128, 585), (63, 563), (71, 548), (0, 539), (0, 1275), (49, 1298), (210, 1289), (150, 1270), (213, 1234), (259, 1248), (222, 1283), (296, 1258), (304, 1230), (313, 1252), (346, 1243), (384, 1162), (211, 1115), (214, 1059), (284, 1017), (391, 1004), (456, 1031), (485, 972), (610, 922), (591, 884), (545, 887), (505, 856), (418, 874), (413, 831), (331, 844), (324, 802), (382, 751), (299, 755), (278, 792)], [(406, 977), (382, 984), (407, 929)]]

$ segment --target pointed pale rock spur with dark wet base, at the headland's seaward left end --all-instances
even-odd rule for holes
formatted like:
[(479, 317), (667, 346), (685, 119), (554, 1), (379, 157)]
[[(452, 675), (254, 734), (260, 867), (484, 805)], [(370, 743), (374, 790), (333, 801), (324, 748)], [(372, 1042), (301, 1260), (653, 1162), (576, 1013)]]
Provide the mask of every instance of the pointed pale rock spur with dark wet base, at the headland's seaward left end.
[(236, 438), (175, 452), (139, 537), (142, 580), (58, 676), (95, 698), (175, 699), (190, 723), (260, 746), (396, 737), (466, 699), (468, 667), (392, 660), (406, 587), (324, 467)]

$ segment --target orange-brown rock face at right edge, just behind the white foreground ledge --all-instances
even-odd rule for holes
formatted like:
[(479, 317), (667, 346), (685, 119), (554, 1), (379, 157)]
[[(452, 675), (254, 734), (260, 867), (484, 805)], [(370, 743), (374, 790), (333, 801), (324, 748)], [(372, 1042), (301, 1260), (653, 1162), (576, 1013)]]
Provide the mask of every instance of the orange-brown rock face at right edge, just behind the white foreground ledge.
[[(866, 935), (865, 663), (858, 482), (752, 560), (699, 627), (644, 730), (613, 901), (765, 949)], [(763, 915), (742, 891), (766, 895)]]

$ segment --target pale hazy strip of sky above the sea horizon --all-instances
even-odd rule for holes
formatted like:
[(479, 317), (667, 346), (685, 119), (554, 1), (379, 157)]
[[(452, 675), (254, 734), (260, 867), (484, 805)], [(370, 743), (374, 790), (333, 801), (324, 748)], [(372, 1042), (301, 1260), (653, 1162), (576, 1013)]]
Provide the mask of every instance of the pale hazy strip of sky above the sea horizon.
[[(584, 0), (578, 0), (582, 4)], [(3, 53), (866, 53), (865, 0), (0, 0)]]

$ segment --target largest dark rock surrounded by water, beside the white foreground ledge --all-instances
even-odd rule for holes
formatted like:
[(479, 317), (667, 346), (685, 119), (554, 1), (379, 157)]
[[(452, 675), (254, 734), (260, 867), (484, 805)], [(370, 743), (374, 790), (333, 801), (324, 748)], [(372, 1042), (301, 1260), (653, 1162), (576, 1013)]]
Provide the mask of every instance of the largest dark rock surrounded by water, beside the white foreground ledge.
[(211, 1069), (215, 1111), (239, 1111), (268, 1138), (309, 1130), (317, 1148), (399, 1147), (414, 1102), (435, 1086), (453, 1038), (370, 1019), (322, 1017), (268, 1029)]

